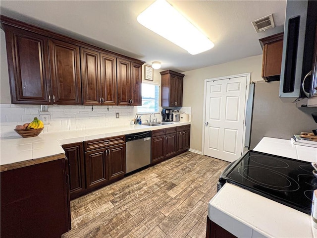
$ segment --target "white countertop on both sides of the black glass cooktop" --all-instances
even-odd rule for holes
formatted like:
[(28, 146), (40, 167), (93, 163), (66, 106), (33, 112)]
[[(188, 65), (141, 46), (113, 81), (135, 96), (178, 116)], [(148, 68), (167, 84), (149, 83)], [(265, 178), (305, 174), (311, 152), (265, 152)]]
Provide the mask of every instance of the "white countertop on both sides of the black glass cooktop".
[[(317, 161), (317, 149), (291, 140), (264, 137), (254, 150), (292, 159)], [(310, 215), (226, 183), (209, 202), (211, 221), (241, 238), (316, 238)]]

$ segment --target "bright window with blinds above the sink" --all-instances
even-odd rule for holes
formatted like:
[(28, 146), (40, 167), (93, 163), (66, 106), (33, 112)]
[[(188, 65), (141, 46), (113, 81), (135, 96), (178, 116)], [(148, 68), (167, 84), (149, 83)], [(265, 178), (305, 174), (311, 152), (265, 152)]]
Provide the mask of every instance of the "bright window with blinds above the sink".
[(142, 83), (142, 106), (138, 106), (138, 113), (159, 112), (159, 85)]

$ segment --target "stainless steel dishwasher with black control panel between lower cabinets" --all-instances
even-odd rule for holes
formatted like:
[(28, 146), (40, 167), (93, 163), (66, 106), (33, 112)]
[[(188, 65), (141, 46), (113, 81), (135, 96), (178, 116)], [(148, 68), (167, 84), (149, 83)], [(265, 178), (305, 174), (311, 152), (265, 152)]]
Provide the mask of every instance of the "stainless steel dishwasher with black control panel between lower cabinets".
[(126, 173), (151, 164), (151, 134), (151, 131), (145, 131), (125, 136)]

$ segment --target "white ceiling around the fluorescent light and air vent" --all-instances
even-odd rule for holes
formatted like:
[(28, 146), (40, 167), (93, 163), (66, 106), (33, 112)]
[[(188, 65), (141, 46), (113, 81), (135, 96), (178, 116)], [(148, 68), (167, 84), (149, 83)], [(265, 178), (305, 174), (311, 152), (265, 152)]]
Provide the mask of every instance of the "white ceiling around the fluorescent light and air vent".
[[(259, 39), (283, 31), (285, 0), (168, 0), (215, 44), (190, 55), (137, 22), (153, 0), (0, 1), (1, 14), (179, 72), (262, 54)], [(273, 13), (275, 28), (251, 21)], [(164, 15), (164, 12), (162, 12)]]

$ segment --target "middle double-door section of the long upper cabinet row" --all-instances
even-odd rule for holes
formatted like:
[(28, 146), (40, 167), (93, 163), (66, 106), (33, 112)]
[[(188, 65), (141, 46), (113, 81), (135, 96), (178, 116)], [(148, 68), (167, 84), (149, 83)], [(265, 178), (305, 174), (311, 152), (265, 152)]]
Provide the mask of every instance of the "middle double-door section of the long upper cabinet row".
[(81, 77), (84, 105), (116, 105), (116, 58), (81, 48)]

